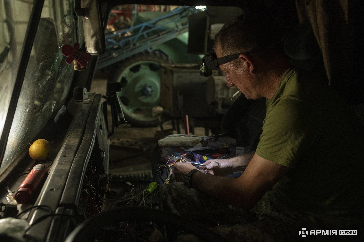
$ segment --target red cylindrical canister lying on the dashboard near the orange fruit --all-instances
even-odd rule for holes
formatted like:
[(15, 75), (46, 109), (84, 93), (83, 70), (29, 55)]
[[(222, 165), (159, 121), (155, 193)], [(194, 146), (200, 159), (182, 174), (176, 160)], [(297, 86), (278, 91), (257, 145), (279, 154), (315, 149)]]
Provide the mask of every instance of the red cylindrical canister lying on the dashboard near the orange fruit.
[(48, 169), (45, 165), (35, 165), (15, 193), (14, 198), (17, 203), (27, 204), (30, 201), (33, 193), (35, 193), (40, 188), (47, 175)]

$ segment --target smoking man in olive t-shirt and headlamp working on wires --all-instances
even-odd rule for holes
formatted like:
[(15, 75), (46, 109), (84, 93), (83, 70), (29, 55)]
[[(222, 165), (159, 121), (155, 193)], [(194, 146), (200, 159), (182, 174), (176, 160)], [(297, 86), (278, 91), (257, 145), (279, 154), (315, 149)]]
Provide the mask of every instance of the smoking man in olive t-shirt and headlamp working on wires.
[[(164, 208), (212, 222), (228, 241), (360, 241), (363, 129), (331, 87), (292, 67), (272, 44), (273, 30), (260, 17), (238, 15), (216, 34), (211, 53), (227, 86), (267, 99), (256, 152), (209, 160), (199, 170), (175, 163), (176, 180), (189, 188), (163, 187)], [(226, 177), (235, 171), (244, 172)], [(338, 235), (348, 229), (358, 236)]]

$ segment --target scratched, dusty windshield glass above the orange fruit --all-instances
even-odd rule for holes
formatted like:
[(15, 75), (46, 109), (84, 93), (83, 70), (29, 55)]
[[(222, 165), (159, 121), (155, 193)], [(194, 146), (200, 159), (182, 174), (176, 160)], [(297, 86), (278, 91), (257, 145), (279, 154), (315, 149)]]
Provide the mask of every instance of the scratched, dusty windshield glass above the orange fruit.
[[(0, 3), (0, 13), (2, 19), (5, 19), (3, 27), (0, 28), (1, 133), (9, 110), (17, 70), (25, 68), (19, 67), (19, 61), (32, 5), (33, 2), (30, 0), (5, 0)], [(73, 45), (74, 42), (79, 42), (76, 36), (82, 29), (76, 28), (72, 20), (73, 6), (74, 3), (70, 0), (46, 0), (39, 25), (31, 26), (31, 31), (36, 31), (36, 36), (1, 163), (0, 175), (19, 152), (27, 147), (45, 126), (52, 113), (60, 108), (67, 98), (74, 69), (72, 64), (65, 63), (61, 48), (64, 44)]]

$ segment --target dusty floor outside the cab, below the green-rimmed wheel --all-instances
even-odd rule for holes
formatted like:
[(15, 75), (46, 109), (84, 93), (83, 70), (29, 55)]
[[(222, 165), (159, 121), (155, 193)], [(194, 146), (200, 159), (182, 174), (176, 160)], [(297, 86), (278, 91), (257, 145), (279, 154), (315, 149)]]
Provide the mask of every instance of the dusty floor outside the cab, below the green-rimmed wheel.
[[(96, 71), (92, 81), (90, 92), (106, 94), (107, 72)], [(110, 114), (108, 117), (110, 118)], [(163, 124), (163, 130), (172, 128), (171, 121)], [(185, 133), (180, 125), (181, 133)], [(176, 134), (176, 131), (173, 131)], [(167, 135), (167, 134), (165, 134)], [(130, 124), (122, 124), (115, 128), (114, 134), (110, 137), (110, 164), (109, 172), (116, 174), (130, 174), (139, 171), (151, 173), (151, 154), (163, 138), (160, 127), (140, 128), (132, 127)], [(195, 127), (194, 135), (205, 135), (203, 127)]]

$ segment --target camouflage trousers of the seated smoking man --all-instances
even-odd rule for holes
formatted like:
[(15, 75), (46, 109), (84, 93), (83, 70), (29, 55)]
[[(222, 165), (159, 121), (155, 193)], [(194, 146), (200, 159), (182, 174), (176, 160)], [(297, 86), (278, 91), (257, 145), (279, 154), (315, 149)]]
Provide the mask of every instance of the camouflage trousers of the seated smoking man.
[[(165, 210), (206, 225), (231, 242), (326, 242), (330, 238), (302, 237), (299, 232), (303, 228), (316, 230), (320, 226), (287, 208), (273, 191), (267, 192), (249, 211), (224, 204), (179, 182), (168, 184), (161, 193)], [(203, 238), (181, 234), (176, 241), (200, 242)]]

